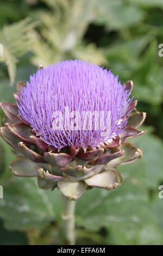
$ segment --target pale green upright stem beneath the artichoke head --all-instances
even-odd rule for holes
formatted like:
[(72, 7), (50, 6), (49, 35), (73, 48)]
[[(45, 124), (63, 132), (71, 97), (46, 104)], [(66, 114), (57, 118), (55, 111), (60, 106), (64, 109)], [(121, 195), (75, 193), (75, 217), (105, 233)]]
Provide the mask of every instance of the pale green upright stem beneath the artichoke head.
[(63, 201), (63, 211), (62, 220), (64, 222), (64, 239), (65, 245), (75, 245), (75, 205), (76, 202), (72, 200), (67, 200), (65, 196), (62, 195)]

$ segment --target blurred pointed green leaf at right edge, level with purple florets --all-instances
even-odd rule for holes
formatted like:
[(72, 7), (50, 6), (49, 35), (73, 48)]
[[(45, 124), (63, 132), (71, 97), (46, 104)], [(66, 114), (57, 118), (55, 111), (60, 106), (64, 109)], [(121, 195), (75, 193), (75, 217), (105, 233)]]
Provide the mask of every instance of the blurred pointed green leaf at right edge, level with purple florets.
[(136, 99), (151, 104), (160, 104), (163, 96), (163, 76), (162, 70), (159, 68), (157, 52), (158, 44), (153, 41), (140, 59), (140, 66), (133, 74), (133, 80), (135, 81), (133, 95)]

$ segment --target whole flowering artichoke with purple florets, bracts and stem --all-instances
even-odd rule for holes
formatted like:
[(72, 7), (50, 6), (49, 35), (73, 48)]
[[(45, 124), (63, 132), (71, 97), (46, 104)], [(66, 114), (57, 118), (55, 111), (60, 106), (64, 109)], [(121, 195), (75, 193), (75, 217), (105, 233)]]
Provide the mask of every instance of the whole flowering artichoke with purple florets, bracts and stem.
[[(117, 167), (142, 157), (142, 150), (127, 142), (145, 133), (137, 130), (146, 113), (136, 111), (137, 101), (129, 97), (132, 88), (133, 82), (121, 85), (111, 71), (71, 60), (40, 66), (27, 84), (17, 84), (16, 103), (1, 103), (5, 118), (0, 133), (16, 154), (10, 169), (16, 176), (37, 177), (43, 190), (61, 191), (67, 243), (74, 243), (73, 201), (88, 188), (120, 186)], [(64, 117), (66, 129), (54, 129), (54, 120), (67, 107), (73, 115)], [(77, 113), (86, 111), (94, 113), (92, 127), (88, 115), (81, 130)], [(110, 129), (104, 135), (94, 127), (101, 111), (110, 113)]]

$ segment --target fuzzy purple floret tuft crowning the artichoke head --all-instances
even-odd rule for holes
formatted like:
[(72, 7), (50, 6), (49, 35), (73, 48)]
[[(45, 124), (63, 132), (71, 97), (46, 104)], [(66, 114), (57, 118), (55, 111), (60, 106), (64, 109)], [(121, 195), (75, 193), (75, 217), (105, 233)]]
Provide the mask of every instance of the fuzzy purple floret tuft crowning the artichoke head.
[[(131, 102), (129, 94), (111, 71), (80, 60), (66, 60), (30, 76), (17, 105), (21, 117), (47, 144), (59, 149), (71, 145), (86, 147), (114, 138), (125, 129)], [(88, 125), (89, 117), (85, 120), (85, 130), (54, 130), (54, 112), (64, 116), (65, 107), (70, 112), (77, 111), (81, 117), (84, 111), (96, 111), (99, 116), (104, 112), (103, 125), (106, 125), (106, 112), (109, 111), (109, 133), (103, 136), (101, 127), (95, 129), (96, 117), (92, 118), (92, 130)], [(68, 127), (72, 119), (68, 120)], [(82, 126), (82, 119), (78, 125)]]

